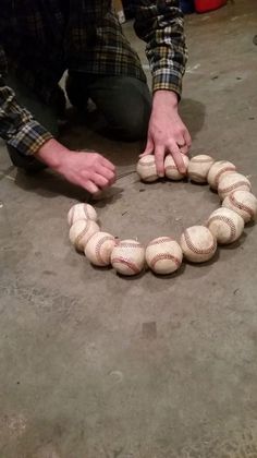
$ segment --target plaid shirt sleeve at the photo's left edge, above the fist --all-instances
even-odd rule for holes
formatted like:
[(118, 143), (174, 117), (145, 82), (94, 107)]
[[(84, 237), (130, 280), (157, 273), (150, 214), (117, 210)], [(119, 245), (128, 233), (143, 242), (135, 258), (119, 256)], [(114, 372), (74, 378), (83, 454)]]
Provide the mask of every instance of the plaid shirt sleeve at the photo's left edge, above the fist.
[(0, 136), (20, 153), (32, 155), (52, 135), (19, 105), (14, 92), (4, 82), (5, 76), (7, 59), (0, 45)]

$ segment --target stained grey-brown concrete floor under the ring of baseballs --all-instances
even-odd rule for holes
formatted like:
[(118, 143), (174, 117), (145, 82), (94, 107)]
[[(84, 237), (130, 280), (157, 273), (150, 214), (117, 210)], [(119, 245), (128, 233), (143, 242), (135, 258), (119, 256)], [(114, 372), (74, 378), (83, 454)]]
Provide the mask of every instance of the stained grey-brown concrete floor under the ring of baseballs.
[[(250, 0), (186, 19), (181, 105), (193, 153), (232, 160), (255, 193), (256, 24)], [(113, 234), (179, 237), (218, 206), (207, 186), (127, 174), (138, 144), (105, 140), (83, 122), (64, 141), (119, 166), (111, 195), (97, 203)], [(119, 278), (69, 243), (66, 213), (83, 191), (50, 172), (17, 172), (3, 144), (0, 160), (0, 457), (256, 458), (254, 226), (207, 265)]]

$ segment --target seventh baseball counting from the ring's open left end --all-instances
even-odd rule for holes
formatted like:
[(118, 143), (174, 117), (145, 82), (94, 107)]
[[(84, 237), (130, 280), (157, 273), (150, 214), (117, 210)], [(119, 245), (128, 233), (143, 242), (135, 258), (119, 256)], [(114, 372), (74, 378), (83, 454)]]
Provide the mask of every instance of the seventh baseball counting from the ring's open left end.
[(232, 209), (220, 207), (210, 215), (207, 227), (218, 243), (228, 244), (240, 238), (244, 230), (244, 220)]

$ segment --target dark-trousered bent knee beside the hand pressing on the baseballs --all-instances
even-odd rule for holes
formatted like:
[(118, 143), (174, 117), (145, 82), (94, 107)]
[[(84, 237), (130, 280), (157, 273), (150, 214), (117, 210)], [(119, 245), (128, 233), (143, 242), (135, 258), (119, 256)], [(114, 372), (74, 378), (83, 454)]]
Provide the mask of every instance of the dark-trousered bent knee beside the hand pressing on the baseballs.
[(151, 110), (146, 83), (131, 76), (70, 72), (66, 91), (78, 108), (85, 107), (90, 97), (118, 137), (135, 141), (146, 136)]

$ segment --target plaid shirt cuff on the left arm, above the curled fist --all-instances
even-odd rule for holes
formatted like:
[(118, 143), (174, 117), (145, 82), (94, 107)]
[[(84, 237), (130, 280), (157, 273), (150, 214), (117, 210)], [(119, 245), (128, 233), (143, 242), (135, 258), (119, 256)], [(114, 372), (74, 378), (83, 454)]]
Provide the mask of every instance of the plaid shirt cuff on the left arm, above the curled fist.
[(52, 134), (48, 132), (37, 121), (32, 120), (27, 122), (22, 129), (8, 141), (8, 144), (17, 149), (25, 156), (33, 155), (40, 149), (40, 147), (52, 138)]

